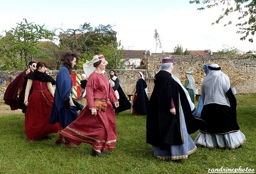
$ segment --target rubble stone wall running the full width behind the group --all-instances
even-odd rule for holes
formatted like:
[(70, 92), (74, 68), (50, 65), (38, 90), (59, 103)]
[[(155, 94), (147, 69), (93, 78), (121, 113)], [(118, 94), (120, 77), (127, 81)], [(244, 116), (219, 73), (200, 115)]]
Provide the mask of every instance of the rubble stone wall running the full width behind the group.
[[(250, 56), (176, 56), (164, 54), (153, 54), (148, 58), (149, 70), (116, 70), (116, 74), (120, 80), (120, 86), (126, 95), (133, 94), (137, 82), (137, 71), (142, 71), (145, 76), (145, 80), (148, 84), (148, 95), (150, 97), (152, 89), (154, 88), (154, 76), (157, 73), (161, 59), (167, 56), (171, 56), (174, 59), (174, 71), (173, 75), (181, 80), (184, 84), (186, 77), (186, 71), (191, 71), (195, 79), (196, 88), (201, 93), (201, 84), (204, 79), (204, 72), (202, 71), (202, 65), (207, 64), (219, 64), (222, 71), (229, 76), (231, 81), (231, 87), (237, 89), (238, 94), (250, 94), (256, 92), (256, 59)], [(75, 73), (83, 73), (83, 71), (74, 71)], [(106, 70), (108, 76), (109, 70)], [(11, 82), (11, 75), (19, 74), (20, 71), (0, 71), (0, 78), (3, 82), (0, 84), (0, 98), (4, 97), (5, 89)], [(56, 77), (57, 70), (50, 71), (52, 77)]]

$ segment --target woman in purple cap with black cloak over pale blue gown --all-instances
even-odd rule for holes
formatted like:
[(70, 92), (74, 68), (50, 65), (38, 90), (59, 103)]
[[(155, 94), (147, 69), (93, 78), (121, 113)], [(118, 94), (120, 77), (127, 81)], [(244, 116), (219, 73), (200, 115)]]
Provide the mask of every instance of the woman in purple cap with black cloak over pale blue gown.
[[(173, 59), (164, 58), (162, 64), (170, 64), (171, 68)], [(180, 80), (170, 72), (160, 68), (155, 75), (146, 118), (146, 142), (152, 145), (157, 158), (180, 160), (196, 151), (189, 134), (195, 133), (203, 121), (193, 117), (195, 105)]]

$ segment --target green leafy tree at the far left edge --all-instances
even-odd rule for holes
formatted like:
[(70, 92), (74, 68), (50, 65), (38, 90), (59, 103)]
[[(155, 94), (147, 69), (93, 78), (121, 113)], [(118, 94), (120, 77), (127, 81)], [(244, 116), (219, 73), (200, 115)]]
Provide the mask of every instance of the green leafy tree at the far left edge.
[(42, 54), (39, 41), (53, 40), (55, 35), (45, 29), (44, 25), (29, 23), (27, 19), (5, 32), (5, 37), (0, 37), (0, 59), (4, 64), (2, 70), (23, 70), (28, 62)]

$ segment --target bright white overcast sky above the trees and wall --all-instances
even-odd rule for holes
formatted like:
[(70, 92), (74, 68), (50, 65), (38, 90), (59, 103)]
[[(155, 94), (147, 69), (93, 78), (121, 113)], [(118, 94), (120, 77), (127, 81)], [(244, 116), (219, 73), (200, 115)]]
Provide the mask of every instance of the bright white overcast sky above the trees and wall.
[[(184, 50), (216, 52), (223, 45), (245, 52), (256, 50), (255, 43), (240, 41), (234, 25), (224, 27), (224, 21), (211, 25), (219, 17), (220, 8), (198, 11), (198, 6), (189, 4), (189, 0), (8, 0), (0, 4), (0, 31), (14, 28), (23, 18), (45, 24), (49, 30), (77, 29), (88, 22), (92, 27), (112, 25), (126, 50), (155, 52), (155, 29), (162, 44), (157, 52), (173, 52), (178, 44)], [(231, 19), (234, 17), (237, 16)]]

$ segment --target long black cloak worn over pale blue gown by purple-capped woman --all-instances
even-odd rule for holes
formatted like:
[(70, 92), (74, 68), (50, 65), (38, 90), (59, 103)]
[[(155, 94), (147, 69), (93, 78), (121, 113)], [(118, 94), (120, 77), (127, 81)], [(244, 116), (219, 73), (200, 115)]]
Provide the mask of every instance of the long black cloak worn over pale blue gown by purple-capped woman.
[[(146, 118), (147, 143), (159, 147), (183, 144), (179, 94), (187, 132), (192, 134), (199, 129), (203, 121), (193, 117), (183, 88), (172, 78), (172, 74), (159, 71), (155, 75), (155, 86), (149, 100)], [(170, 113), (171, 100), (175, 105), (176, 115)]]

